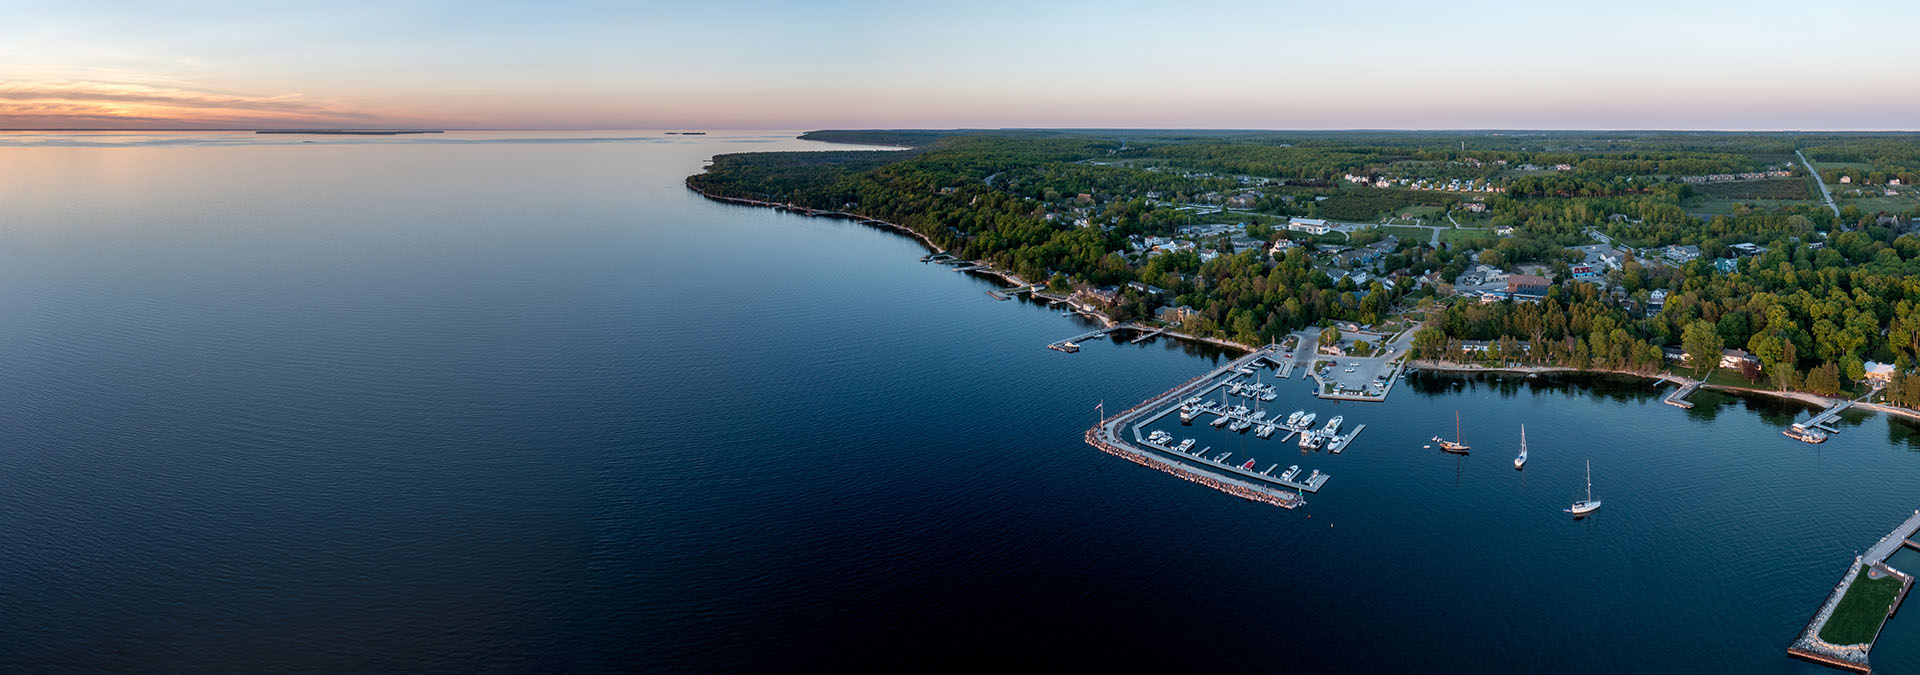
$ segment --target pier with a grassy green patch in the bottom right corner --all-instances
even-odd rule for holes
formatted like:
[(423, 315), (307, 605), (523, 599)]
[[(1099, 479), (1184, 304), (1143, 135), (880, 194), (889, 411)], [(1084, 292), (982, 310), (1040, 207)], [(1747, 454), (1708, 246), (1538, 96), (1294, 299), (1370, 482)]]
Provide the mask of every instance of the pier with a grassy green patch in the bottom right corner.
[[(1864, 554), (1855, 556), (1847, 564), (1847, 571), (1839, 577), (1839, 583), (1836, 583), (1834, 591), (1826, 594), (1826, 602), (1820, 604), (1820, 610), (1814, 612), (1812, 619), (1807, 619), (1807, 627), (1803, 627), (1799, 637), (1793, 639), (1793, 644), (1788, 646), (1788, 654), (1820, 665), (1870, 673), (1872, 665), (1868, 665), (1866, 656), (1874, 650), (1880, 631), (1884, 631), (1887, 619), (1901, 610), (1901, 602), (1907, 600), (1907, 593), (1912, 591), (1914, 585), (1914, 577), (1907, 571), (1889, 568), (1887, 558), (1903, 547), (1920, 548), (1920, 543), (1912, 541), (1916, 531), (1920, 531), (1920, 510), (1914, 510), (1907, 522), (1893, 527), (1893, 531), (1885, 537), (1880, 537), (1880, 541), (1874, 543), (1872, 548), (1866, 548)], [(1880, 589), (1860, 589), (1859, 594), (1849, 596), (1849, 593), (1855, 591), (1853, 585), (1862, 579), (1866, 583), (1878, 583)], [(1887, 579), (1899, 583), (1899, 589), (1891, 593), (1891, 600), (1885, 598)], [(1851, 604), (1845, 602), (1849, 598), (1853, 600)], [(1834, 619), (1836, 610), (1847, 614), (1845, 619), (1855, 623), (1849, 629), (1857, 629), (1862, 614), (1872, 617), (1876, 612), (1882, 612), (1880, 602), (1885, 602), (1885, 608), (1884, 614), (1878, 616), (1872, 635), (1857, 631), (1832, 635), (1826, 631), (1826, 625)], [(1843, 604), (1847, 606), (1843, 608)]]

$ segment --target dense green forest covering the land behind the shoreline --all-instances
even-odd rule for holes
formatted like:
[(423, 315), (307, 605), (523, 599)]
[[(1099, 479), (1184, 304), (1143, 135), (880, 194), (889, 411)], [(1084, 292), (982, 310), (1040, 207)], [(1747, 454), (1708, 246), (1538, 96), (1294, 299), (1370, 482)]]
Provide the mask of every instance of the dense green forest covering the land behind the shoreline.
[[(687, 182), (899, 222), (1056, 290), (1119, 288), (1110, 314), (1123, 320), (1190, 305), (1188, 330), (1246, 343), (1423, 307), (1413, 311), (1427, 320), (1417, 336), (1427, 357), (1459, 357), (1463, 341), (1490, 341), (1475, 359), (1655, 370), (1661, 347), (1715, 343), (1757, 355), (1761, 374), (1747, 372), (1757, 385), (1822, 393), (1860, 380), (1866, 361), (1903, 372), (1920, 364), (1920, 238), (1885, 226), (1887, 213), (1836, 217), (1805, 178), (1672, 180), (1780, 167), (1795, 148), (1893, 178), (1920, 167), (1914, 134), (824, 130), (806, 138), (912, 150), (720, 155)], [(1551, 165), (1572, 169), (1536, 169)], [(1352, 173), (1478, 178), (1505, 192), (1354, 186), (1342, 180)], [(1227, 198), (1238, 211), (1225, 211)], [(1440, 245), (1400, 242), (1359, 286), (1334, 274), (1344, 263), (1327, 253), (1267, 255), (1263, 245), (1380, 240), (1379, 232), (1352, 240), (1277, 232), (1273, 222), (1284, 217), (1373, 222), (1409, 207), (1465, 217), (1455, 209), (1467, 199), (1484, 205), (1473, 221), (1480, 230)], [(1764, 201), (1703, 215), (1693, 211), (1701, 199)], [(1202, 240), (1206, 261), (1194, 249), (1140, 255), (1140, 238), (1235, 219), (1250, 222), (1246, 236), (1258, 247)], [(1569, 247), (1594, 244), (1596, 234), (1640, 253), (1697, 245), (1703, 257), (1628, 261), (1603, 288), (1569, 282), (1569, 263), (1580, 261)], [(1734, 244), (1768, 251), (1736, 259), (1732, 272), (1716, 268), (1713, 259), (1736, 255)], [(1557, 284), (1538, 303), (1459, 301), (1440, 284), (1415, 284), (1428, 272), (1452, 280), (1476, 263), (1544, 265)], [(1125, 282), (1167, 295), (1144, 297)], [(1653, 290), (1667, 301), (1649, 311)], [(1920, 382), (1901, 378), (1889, 391), (1920, 399)]]

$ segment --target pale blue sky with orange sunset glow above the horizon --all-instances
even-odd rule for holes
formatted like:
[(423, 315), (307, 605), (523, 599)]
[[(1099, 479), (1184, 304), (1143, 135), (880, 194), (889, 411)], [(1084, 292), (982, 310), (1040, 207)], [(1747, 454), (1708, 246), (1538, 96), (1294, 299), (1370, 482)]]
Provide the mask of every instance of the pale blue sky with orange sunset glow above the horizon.
[(1920, 2), (0, 10), (0, 128), (1920, 128)]

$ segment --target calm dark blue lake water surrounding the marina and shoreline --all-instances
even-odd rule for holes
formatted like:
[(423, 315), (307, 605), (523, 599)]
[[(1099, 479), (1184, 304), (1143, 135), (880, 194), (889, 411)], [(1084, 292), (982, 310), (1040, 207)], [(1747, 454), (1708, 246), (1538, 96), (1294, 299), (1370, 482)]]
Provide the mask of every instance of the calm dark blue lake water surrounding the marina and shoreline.
[(1231, 355), (1054, 353), (912, 240), (682, 186), (824, 148), (0, 134), (0, 669), (1826, 673), (1788, 640), (1920, 506), (1905, 422), (1603, 380), (1290, 380), (1365, 433), (1177, 428), (1332, 474), (1215, 493), (1081, 431)]

